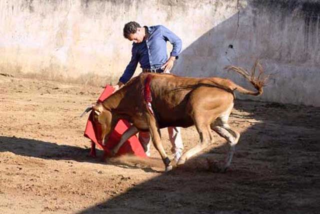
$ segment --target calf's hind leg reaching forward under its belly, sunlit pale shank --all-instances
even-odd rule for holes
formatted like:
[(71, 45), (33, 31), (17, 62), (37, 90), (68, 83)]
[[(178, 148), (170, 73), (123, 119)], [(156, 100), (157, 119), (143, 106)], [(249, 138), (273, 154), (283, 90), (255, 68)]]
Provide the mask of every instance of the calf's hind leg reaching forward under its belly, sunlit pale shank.
[(210, 127), (208, 124), (195, 123), (195, 127), (199, 133), (200, 141), (196, 146), (192, 147), (191, 149), (189, 149), (188, 151), (183, 153), (182, 156), (180, 157), (180, 159), (178, 160), (178, 162), (176, 163), (176, 165), (184, 164), (184, 162), (187, 159), (189, 159), (190, 157), (192, 157), (196, 153), (203, 150), (208, 145), (209, 141), (212, 139), (211, 130), (210, 130)]

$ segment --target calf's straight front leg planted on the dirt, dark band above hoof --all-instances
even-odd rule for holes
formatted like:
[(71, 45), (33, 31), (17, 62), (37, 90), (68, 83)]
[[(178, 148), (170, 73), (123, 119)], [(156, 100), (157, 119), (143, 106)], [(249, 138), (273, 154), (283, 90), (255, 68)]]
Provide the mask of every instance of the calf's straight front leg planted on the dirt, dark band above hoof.
[(152, 142), (156, 150), (160, 153), (162, 161), (165, 165), (165, 171), (172, 170), (171, 161), (169, 160), (168, 156), (166, 155), (162, 143), (161, 143), (161, 137), (160, 137), (160, 129), (158, 128), (155, 118), (153, 115), (146, 114), (146, 120), (149, 127), (149, 132), (152, 138)]

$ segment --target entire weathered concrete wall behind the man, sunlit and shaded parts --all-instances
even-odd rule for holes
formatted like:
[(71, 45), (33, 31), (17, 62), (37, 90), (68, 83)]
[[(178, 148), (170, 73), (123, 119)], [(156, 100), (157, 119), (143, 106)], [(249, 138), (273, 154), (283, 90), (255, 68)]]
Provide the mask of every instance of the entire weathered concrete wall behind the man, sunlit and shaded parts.
[(276, 76), (258, 99), (320, 106), (319, 17), (312, 0), (0, 0), (0, 71), (117, 79), (130, 60), (122, 28), (134, 20), (182, 39), (175, 74), (249, 87), (223, 67), (260, 58)]

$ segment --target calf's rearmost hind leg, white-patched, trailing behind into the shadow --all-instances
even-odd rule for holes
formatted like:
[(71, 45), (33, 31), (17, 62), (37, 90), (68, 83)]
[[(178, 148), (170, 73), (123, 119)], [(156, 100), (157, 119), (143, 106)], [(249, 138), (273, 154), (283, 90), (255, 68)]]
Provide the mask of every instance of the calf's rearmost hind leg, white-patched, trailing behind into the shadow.
[(224, 166), (220, 169), (221, 171), (225, 171), (231, 164), (235, 145), (239, 141), (240, 134), (230, 128), (227, 124), (227, 118), (218, 118), (217, 121), (210, 125), (210, 127), (221, 137), (225, 138), (230, 146), (225, 158)]

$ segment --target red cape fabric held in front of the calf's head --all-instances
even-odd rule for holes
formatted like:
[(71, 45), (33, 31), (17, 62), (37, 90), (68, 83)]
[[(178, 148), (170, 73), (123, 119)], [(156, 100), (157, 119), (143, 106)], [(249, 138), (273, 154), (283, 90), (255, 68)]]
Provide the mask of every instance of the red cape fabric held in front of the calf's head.
[[(98, 98), (97, 102), (102, 102), (113, 92), (113, 88), (109, 85), (106, 85), (104, 91)], [(113, 132), (111, 133), (105, 146), (101, 144), (101, 126), (98, 123), (94, 123), (92, 120), (92, 112), (89, 115), (86, 127), (84, 130), (84, 136), (89, 138), (94, 142), (99, 148), (103, 149), (106, 156), (109, 156), (110, 150), (119, 142), (121, 135), (125, 130), (130, 127), (130, 124), (126, 120), (119, 120), (116, 124)], [(146, 157), (143, 148), (138, 140), (138, 138), (133, 135), (130, 137), (119, 149), (116, 155), (122, 154), (133, 154), (140, 157)]]

